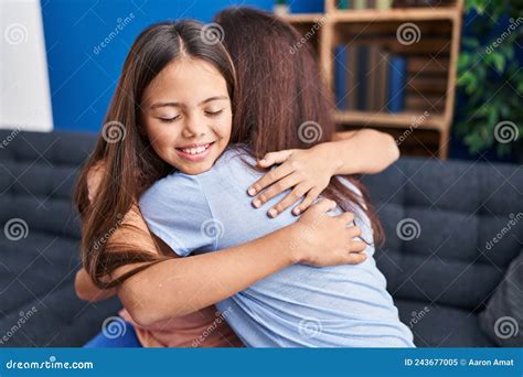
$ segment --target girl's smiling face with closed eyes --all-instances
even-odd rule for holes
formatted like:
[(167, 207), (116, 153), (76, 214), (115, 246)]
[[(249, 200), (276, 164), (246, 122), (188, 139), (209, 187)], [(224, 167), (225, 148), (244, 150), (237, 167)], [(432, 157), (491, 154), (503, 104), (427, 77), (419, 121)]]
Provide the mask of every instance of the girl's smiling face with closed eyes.
[(158, 155), (185, 174), (210, 170), (228, 144), (227, 84), (210, 63), (183, 57), (147, 87), (141, 119)]

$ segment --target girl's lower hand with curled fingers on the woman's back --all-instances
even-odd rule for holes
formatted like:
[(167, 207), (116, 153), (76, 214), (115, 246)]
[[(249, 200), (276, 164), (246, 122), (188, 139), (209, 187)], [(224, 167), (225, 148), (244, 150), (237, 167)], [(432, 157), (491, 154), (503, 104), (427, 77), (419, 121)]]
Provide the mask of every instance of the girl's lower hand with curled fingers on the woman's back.
[(290, 245), (295, 262), (327, 267), (359, 265), (366, 259), (363, 252), (366, 244), (353, 239), (361, 235), (357, 226), (350, 226), (354, 215), (348, 212), (329, 215), (334, 208), (333, 201), (321, 200), (291, 225), (296, 231)]

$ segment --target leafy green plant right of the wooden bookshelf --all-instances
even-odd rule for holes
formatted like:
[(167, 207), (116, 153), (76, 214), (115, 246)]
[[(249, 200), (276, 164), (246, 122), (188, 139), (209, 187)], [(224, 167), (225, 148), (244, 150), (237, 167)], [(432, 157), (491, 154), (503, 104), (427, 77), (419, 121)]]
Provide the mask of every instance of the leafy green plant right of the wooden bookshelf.
[[(478, 17), (471, 25), (473, 36), (463, 37), (458, 58), (458, 88), (465, 91), (467, 105), (455, 130), (471, 153), (495, 147), (503, 157), (522, 144), (523, 69), (514, 57), (523, 45), (522, 9), (522, 0), (466, 0), (466, 10), (474, 10)], [(510, 21), (500, 33), (498, 25), (506, 15)], [(510, 123), (510, 142), (500, 142), (494, 132), (500, 122)]]

